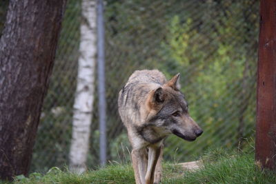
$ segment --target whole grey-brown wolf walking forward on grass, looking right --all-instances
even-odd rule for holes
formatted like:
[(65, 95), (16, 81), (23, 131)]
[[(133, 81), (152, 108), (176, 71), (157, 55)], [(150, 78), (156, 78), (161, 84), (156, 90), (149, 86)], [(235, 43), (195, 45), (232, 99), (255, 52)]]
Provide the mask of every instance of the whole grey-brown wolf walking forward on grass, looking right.
[(164, 139), (194, 141), (203, 132), (188, 114), (179, 74), (169, 81), (159, 70), (137, 70), (120, 90), (118, 109), (132, 146), (137, 184), (161, 182)]

